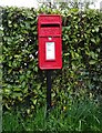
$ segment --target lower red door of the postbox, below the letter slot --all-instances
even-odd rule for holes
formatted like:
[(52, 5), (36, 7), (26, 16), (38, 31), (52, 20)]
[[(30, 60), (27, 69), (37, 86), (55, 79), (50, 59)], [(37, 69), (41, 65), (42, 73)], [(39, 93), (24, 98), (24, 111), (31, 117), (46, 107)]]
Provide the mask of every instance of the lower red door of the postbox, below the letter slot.
[(40, 69), (61, 69), (62, 68), (62, 45), (61, 38), (48, 37), (39, 39), (39, 65)]

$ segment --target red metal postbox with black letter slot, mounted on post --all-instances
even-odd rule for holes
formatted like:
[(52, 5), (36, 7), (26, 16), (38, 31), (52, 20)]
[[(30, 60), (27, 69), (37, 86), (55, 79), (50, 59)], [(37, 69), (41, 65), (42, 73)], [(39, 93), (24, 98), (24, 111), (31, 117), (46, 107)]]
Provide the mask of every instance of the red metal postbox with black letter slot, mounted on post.
[(62, 68), (62, 21), (59, 14), (38, 17), (39, 66), (41, 70)]

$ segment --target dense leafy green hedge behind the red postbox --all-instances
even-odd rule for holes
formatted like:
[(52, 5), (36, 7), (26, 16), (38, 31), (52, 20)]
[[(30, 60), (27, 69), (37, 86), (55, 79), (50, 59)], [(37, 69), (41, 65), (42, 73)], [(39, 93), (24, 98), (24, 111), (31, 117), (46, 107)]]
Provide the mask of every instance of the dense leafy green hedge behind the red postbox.
[(102, 12), (75, 8), (2, 9), (3, 111), (31, 115), (45, 104), (45, 71), (38, 68), (39, 13), (62, 16), (63, 68), (52, 72), (52, 105), (61, 111), (73, 100), (102, 100)]

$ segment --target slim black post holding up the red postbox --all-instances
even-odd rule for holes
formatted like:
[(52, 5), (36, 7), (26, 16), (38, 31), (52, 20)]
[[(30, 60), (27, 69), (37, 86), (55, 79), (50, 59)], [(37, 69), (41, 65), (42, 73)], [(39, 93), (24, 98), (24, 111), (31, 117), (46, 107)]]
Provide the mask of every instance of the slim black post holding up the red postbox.
[(51, 70), (47, 70), (47, 116), (51, 110)]

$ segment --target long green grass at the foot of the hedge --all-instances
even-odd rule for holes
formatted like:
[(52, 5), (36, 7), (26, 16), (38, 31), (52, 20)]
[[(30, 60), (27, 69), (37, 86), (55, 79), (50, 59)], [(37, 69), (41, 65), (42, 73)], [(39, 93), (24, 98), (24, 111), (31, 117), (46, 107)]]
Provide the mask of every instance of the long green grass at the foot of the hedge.
[(22, 117), (21, 112), (3, 113), (3, 131), (102, 131), (102, 111), (92, 101), (75, 101), (71, 108), (53, 109), (45, 116), (45, 108), (38, 109), (33, 116)]

